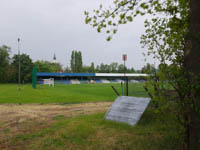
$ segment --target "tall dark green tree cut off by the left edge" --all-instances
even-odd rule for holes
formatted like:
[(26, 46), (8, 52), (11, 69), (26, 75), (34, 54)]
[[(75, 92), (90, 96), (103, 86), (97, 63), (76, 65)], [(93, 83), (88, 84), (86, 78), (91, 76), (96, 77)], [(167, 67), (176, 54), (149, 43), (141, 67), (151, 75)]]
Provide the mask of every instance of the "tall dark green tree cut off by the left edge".
[(0, 47), (0, 82), (8, 81), (8, 68), (10, 57), (9, 57), (10, 48), (6, 45)]

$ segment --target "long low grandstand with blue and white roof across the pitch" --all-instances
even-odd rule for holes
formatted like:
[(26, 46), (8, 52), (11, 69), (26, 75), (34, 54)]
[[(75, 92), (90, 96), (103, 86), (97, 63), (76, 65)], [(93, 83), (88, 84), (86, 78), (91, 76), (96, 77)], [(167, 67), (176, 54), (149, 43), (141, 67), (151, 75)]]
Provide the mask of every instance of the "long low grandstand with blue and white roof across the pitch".
[(53, 78), (55, 84), (121, 83), (127, 78), (146, 77), (147, 74), (133, 73), (49, 73), (37, 72), (38, 83)]

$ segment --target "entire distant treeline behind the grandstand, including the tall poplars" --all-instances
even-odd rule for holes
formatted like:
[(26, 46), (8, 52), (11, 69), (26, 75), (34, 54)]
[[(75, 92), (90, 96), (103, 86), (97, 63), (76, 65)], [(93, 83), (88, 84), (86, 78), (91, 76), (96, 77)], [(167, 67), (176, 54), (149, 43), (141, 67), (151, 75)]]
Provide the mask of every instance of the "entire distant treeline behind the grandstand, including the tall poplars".
[(81, 51), (72, 51), (70, 67), (63, 69), (60, 63), (38, 60), (33, 62), (27, 54), (15, 54), (10, 57), (10, 47), (0, 46), (0, 83), (11, 83), (18, 81), (19, 59), (21, 66), (22, 83), (31, 82), (32, 69), (36, 65), (37, 72), (70, 72), (70, 73), (154, 73), (156, 71), (154, 65), (146, 64), (141, 70), (124, 67), (123, 64), (113, 62), (111, 64), (101, 63), (95, 67), (92, 62), (90, 66), (83, 65)]

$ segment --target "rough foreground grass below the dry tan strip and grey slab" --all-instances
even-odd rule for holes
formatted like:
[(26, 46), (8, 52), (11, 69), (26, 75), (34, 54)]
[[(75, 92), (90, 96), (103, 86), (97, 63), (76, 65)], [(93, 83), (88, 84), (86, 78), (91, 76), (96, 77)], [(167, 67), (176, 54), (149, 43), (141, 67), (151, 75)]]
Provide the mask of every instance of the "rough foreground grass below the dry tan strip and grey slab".
[[(20, 134), (8, 144), (29, 150), (172, 150), (180, 149), (176, 129), (170, 119), (166, 128), (148, 109), (132, 127), (107, 121), (104, 113), (54, 118), (56, 122), (38, 132)], [(165, 127), (164, 127), (165, 126)], [(24, 148), (24, 147), (23, 147)]]

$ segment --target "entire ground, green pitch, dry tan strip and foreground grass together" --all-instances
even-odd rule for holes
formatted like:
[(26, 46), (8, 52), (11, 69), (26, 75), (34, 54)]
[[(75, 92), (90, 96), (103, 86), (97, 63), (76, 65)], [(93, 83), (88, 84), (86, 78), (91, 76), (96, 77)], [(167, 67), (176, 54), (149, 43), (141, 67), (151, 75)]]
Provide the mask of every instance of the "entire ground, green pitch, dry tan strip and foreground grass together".
[[(173, 115), (154, 113), (150, 106), (131, 127), (107, 121), (105, 113), (120, 93), (120, 84), (39, 85), (32, 89), (0, 85), (1, 150), (158, 150), (179, 149)], [(132, 95), (147, 96), (143, 84)], [(130, 89), (129, 89), (130, 90)], [(76, 103), (76, 104), (74, 104)]]

